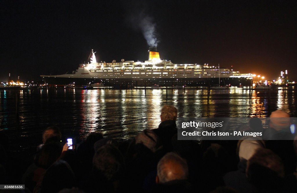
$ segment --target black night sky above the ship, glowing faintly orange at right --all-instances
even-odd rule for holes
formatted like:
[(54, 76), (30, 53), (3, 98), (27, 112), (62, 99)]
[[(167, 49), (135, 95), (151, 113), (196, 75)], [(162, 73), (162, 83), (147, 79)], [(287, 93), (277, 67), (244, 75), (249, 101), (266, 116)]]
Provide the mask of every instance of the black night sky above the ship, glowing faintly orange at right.
[(91, 49), (97, 61), (147, 60), (130, 21), (144, 16), (155, 23), (161, 59), (233, 65), (269, 79), (287, 69), (297, 80), (296, 1), (94, 2), (2, 1), (0, 80), (70, 72)]

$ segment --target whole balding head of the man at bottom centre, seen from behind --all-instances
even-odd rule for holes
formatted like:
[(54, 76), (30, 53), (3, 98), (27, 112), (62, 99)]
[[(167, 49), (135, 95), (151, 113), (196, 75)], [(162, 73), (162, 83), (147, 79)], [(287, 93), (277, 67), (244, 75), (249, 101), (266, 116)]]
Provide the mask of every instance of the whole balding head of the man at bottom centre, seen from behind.
[(178, 154), (167, 153), (158, 162), (156, 183), (166, 183), (173, 180), (186, 180), (189, 176), (188, 164)]

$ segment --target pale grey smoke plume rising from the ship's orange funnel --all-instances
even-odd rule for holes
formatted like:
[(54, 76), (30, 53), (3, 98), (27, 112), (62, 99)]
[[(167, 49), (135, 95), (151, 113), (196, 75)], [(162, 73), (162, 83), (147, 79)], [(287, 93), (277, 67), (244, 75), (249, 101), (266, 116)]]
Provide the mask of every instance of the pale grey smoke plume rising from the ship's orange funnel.
[(156, 37), (156, 24), (153, 23), (153, 19), (149, 16), (140, 18), (139, 27), (148, 45), (157, 47), (159, 41)]

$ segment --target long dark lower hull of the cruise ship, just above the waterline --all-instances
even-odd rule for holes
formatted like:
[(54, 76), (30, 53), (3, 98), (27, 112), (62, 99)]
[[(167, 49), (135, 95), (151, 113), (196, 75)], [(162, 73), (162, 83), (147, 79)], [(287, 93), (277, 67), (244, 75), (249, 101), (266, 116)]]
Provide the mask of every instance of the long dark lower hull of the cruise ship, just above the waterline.
[[(103, 83), (105, 86), (114, 85), (137, 85), (137, 86), (152, 86), (159, 84), (160, 86), (212, 86), (219, 84), (219, 78), (67, 78), (67, 77), (43, 77), (45, 83), (48, 84), (69, 84), (75, 83), (76, 85), (86, 85), (94, 83)], [(252, 81), (247, 78), (228, 77), (220, 78), (220, 85), (230, 86), (250, 86)]]

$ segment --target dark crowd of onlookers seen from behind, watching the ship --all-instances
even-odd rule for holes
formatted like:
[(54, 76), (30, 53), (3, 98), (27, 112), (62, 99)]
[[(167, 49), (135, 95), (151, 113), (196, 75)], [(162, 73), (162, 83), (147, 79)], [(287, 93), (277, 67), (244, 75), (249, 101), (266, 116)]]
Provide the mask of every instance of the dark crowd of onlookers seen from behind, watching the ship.
[[(24, 184), (24, 190), (13, 191), (32, 193), (297, 192), (297, 138), (284, 132), (290, 129), (290, 117), (279, 110), (270, 117), (282, 120), (271, 119), (263, 130), (272, 135), (269, 140), (178, 140), (177, 110), (165, 105), (156, 129), (126, 142), (92, 132), (73, 149), (61, 142), (60, 129), (51, 126), (19, 180), (9, 175), (8, 150), (0, 141), (0, 184)], [(259, 124), (252, 118), (238, 129), (258, 132)], [(291, 140), (279, 140), (283, 135), (292, 135)]]

